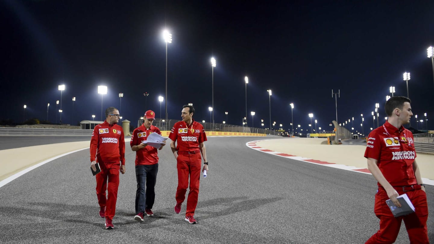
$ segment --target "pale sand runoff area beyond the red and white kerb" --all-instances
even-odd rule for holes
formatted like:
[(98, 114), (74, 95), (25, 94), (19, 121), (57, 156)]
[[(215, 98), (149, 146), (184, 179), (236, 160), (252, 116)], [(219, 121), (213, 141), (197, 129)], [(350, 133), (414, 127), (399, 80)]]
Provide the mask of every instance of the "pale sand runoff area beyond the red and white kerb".
[[(281, 138), (256, 142), (257, 146), (276, 152), (329, 163), (368, 168), (366, 145), (327, 145), (324, 138)], [(422, 178), (434, 180), (434, 155), (416, 153)]]

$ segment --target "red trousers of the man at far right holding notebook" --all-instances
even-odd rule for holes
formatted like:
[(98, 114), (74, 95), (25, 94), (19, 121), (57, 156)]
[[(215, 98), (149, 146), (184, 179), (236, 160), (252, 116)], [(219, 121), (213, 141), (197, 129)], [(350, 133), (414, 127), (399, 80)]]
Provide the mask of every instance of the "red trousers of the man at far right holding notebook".
[(372, 235), (365, 244), (394, 243), (398, 236), (399, 229), (401, 228), (402, 220), (404, 220), (410, 243), (429, 243), (427, 230), (427, 195), (422, 190), (398, 191), (399, 195), (404, 193), (407, 193), (408, 198), (414, 205), (415, 212), (395, 218), (386, 204), (386, 200), (389, 199), (386, 190), (382, 187), (378, 188), (378, 193), (375, 195), (374, 212), (377, 218), (380, 219), (380, 230)]

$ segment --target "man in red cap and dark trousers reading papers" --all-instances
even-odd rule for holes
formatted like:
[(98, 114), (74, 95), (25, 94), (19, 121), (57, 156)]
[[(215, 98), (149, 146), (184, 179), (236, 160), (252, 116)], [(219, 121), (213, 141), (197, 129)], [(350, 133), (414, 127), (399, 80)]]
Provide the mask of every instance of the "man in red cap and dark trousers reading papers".
[[(143, 124), (134, 130), (130, 141), (131, 150), (136, 152), (135, 171), (137, 191), (135, 198), (136, 215), (134, 219), (142, 222), (144, 213), (147, 216), (154, 216), (151, 209), (155, 201), (155, 183), (157, 182), (158, 173), (157, 148), (147, 145), (145, 141), (151, 133), (161, 135), (160, 129), (152, 125), (155, 119), (154, 111), (146, 111), (143, 118)], [(163, 146), (164, 144), (158, 150), (161, 150)]]

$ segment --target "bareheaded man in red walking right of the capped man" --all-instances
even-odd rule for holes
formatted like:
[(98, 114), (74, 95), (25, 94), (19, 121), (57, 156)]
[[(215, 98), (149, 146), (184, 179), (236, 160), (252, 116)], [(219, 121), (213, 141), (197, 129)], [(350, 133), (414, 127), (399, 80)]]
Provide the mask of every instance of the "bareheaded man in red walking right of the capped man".
[[(170, 148), (177, 161), (178, 168), (178, 188), (176, 189), (175, 213), (181, 212), (181, 204), (185, 200), (185, 193), (188, 187), (188, 177), (190, 176), (190, 191), (187, 198), (187, 210), (185, 211), (185, 221), (196, 224), (194, 211), (199, 195), (199, 179), (201, 177), (202, 158), (204, 157), (204, 168), (208, 171), (207, 152), (204, 142), (207, 141), (204, 127), (194, 121), (194, 108), (191, 105), (184, 105), (181, 111), (182, 121), (176, 122), (173, 126), (169, 138), (171, 139)], [(175, 142), (178, 145), (175, 146)]]

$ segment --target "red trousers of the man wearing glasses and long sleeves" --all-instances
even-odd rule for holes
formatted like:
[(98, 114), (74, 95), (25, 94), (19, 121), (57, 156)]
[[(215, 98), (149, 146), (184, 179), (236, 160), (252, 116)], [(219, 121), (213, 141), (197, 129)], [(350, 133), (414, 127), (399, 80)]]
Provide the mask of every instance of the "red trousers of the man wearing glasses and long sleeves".
[[(105, 217), (113, 219), (116, 210), (116, 200), (118, 198), (119, 169), (121, 163), (118, 162), (99, 162), (101, 172), (96, 174), (96, 196), (101, 208), (105, 207)], [(107, 184), (107, 181), (109, 184)], [(108, 191), (106, 197), (105, 191)]]

